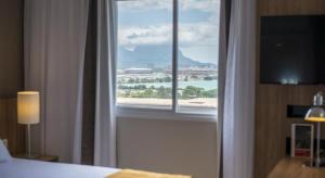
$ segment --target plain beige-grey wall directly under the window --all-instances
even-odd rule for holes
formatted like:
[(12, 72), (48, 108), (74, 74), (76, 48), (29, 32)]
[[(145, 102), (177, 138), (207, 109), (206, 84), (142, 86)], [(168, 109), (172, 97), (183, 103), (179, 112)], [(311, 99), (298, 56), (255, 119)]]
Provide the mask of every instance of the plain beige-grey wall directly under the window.
[(118, 165), (216, 178), (216, 132), (211, 122), (118, 118)]

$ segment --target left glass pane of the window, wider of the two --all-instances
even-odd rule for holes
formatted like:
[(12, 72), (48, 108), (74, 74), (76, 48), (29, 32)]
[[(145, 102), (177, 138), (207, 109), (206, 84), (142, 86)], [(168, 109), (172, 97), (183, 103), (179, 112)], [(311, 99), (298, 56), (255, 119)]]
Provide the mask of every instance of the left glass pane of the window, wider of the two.
[(117, 103), (171, 109), (172, 0), (117, 1)]

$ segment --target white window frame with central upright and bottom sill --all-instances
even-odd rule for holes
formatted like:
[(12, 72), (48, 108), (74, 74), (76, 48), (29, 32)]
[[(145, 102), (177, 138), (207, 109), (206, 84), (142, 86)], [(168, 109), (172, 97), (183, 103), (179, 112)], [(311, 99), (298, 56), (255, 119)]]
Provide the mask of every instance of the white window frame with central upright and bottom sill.
[[(133, 0), (115, 0), (116, 13), (118, 12), (118, 1), (133, 1)], [(185, 113), (180, 112), (178, 105), (178, 50), (179, 50), (179, 2), (180, 0), (172, 0), (172, 98), (171, 98), (171, 109), (156, 109), (156, 107), (136, 107), (128, 104), (118, 104), (115, 99), (116, 115), (121, 118), (144, 118), (144, 119), (165, 119), (165, 120), (190, 120), (190, 122), (212, 122), (216, 123), (218, 118), (218, 107), (216, 112), (207, 113)], [(219, 11), (220, 13), (221, 11)], [(116, 15), (116, 23), (118, 22), (118, 15)], [(117, 26), (117, 25), (116, 25)], [(118, 28), (115, 28), (118, 34)], [(117, 41), (116, 41), (117, 44)], [(116, 48), (117, 49), (117, 48)], [(116, 55), (117, 56), (117, 55)], [(219, 60), (218, 60), (219, 63)], [(117, 64), (117, 62), (116, 62)], [(117, 68), (117, 67), (116, 67)], [(117, 69), (114, 73), (114, 78), (117, 77)], [(115, 79), (115, 98), (117, 85)], [(182, 106), (184, 107), (184, 106)], [(200, 109), (200, 107), (197, 107)], [(202, 107), (204, 109), (204, 107)]]

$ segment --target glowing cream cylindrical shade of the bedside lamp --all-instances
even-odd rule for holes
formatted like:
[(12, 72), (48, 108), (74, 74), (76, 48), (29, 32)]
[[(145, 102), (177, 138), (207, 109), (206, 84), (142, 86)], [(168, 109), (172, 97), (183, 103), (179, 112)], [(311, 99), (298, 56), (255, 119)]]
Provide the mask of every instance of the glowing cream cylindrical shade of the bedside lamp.
[(37, 91), (17, 93), (18, 124), (38, 124), (40, 122), (40, 97)]

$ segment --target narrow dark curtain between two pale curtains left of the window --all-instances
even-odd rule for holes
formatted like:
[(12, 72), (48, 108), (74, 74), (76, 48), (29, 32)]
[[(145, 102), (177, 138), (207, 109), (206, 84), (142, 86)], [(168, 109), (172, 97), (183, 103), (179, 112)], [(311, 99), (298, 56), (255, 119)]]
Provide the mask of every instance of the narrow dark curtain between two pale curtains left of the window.
[(93, 165), (94, 117), (95, 117), (95, 85), (96, 85), (96, 11), (94, 0), (90, 0), (86, 55), (83, 68), (83, 110), (81, 163)]

